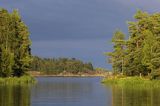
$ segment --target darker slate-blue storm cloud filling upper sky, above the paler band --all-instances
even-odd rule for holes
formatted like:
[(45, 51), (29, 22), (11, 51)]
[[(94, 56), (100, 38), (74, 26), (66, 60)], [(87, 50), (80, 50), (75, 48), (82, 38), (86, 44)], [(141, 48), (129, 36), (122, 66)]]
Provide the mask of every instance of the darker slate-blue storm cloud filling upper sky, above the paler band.
[[(13, 0), (16, 1), (16, 0)], [(18, 8), (33, 40), (95, 39), (125, 26), (127, 8), (105, 0), (27, 0), (2, 4)], [(2, 6), (3, 6), (2, 5)], [(114, 21), (114, 22), (113, 22)], [(38, 37), (37, 37), (38, 36)]]

